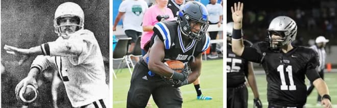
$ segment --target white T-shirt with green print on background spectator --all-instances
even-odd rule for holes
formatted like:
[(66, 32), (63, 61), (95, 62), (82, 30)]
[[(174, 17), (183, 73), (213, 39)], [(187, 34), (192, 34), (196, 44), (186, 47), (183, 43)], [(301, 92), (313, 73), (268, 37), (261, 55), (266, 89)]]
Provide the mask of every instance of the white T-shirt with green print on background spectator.
[(143, 0), (126, 0), (119, 5), (119, 12), (125, 12), (123, 16), (123, 29), (143, 32), (141, 23), (148, 4)]

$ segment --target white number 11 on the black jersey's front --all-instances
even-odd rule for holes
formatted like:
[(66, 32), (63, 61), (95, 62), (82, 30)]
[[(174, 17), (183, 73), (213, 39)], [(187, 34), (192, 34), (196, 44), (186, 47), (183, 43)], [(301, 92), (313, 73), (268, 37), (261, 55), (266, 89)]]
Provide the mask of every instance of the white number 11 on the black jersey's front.
[[(283, 65), (279, 65), (277, 67), (277, 71), (280, 72), (280, 77), (281, 77), (281, 82), (282, 82), (281, 90), (296, 90), (296, 86), (294, 85), (293, 68), (292, 68), (292, 66), (287, 66), (285, 68), (285, 71), (288, 72), (290, 86), (287, 86), (286, 83), (285, 83)], [(288, 87), (289, 87), (289, 89), (288, 89)]]

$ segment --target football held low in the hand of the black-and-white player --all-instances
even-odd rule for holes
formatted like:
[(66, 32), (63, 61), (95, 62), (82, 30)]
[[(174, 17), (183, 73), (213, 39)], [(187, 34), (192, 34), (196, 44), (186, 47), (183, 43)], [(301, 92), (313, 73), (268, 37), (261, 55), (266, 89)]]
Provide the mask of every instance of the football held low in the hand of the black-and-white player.
[(37, 98), (37, 95), (37, 89), (33, 85), (27, 85), (25, 93), (23, 93), (23, 89), (19, 91), (19, 99), (22, 102), (33, 102)]

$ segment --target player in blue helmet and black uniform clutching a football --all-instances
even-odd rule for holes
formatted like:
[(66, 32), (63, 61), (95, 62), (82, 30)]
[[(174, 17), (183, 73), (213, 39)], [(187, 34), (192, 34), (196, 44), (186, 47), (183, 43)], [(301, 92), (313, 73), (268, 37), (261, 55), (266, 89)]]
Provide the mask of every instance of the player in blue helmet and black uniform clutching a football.
[[(132, 73), (127, 107), (145, 107), (151, 94), (158, 107), (181, 107), (179, 87), (200, 75), (202, 52), (210, 43), (205, 36), (207, 28), (208, 12), (199, 2), (184, 4), (177, 21), (155, 24), (151, 42), (145, 47), (148, 52)], [(185, 63), (185, 69), (181, 73), (172, 70), (163, 63), (168, 60)]]

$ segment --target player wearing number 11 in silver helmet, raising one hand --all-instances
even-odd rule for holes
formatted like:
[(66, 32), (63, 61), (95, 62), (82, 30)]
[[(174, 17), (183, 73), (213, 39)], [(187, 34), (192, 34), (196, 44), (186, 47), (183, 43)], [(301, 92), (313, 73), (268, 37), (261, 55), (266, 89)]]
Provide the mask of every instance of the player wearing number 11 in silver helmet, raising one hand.
[(305, 76), (314, 82), (322, 104), (331, 107), (329, 90), (316, 67), (317, 53), (306, 47), (293, 46), (296, 22), (287, 16), (274, 18), (268, 28), (267, 42), (244, 47), (241, 36), (243, 3), (231, 7), (233, 18), (232, 51), (245, 60), (260, 63), (267, 75), (268, 107), (303, 107), (306, 102)]

